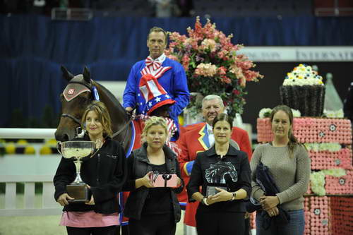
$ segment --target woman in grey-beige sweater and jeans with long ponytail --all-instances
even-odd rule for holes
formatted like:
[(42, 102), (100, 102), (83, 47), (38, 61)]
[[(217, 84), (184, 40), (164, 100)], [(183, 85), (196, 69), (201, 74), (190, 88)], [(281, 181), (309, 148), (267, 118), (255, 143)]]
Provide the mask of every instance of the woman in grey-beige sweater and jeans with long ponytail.
[[(293, 114), (289, 107), (275, 107), (270, 121), (274, 135), (272, 143), (256, 147), (251, 158), (251, 196), (260, 201), (268, 216), (277, 216), (277, 205), (281, 205), (289, 213), (290, 219), (288, 224), (272, 222), (268, 229), (263, 229), (263, 217), (256, 216), (256, 233), (301, 235), (304, 233), (303, 195), (308, 188), (311, 172), (309, 155), (304, 145), (298, 143), (293, 135)], [(255, 172), (260, 162), (269, 168), (280, 193), (265, 195), (256, 182)]]

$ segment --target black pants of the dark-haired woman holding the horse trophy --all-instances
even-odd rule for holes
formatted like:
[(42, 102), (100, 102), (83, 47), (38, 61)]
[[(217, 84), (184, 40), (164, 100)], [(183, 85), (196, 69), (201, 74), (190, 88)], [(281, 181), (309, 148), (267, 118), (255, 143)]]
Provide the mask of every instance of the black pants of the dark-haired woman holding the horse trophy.
[(244, 212), (196, 212), (198, 235), (243, 235)]

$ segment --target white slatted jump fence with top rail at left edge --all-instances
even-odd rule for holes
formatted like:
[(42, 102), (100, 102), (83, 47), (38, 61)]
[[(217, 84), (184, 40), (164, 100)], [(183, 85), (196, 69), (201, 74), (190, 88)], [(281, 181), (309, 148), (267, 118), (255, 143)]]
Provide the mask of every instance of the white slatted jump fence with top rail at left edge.
[[(48, 139), (54, 138), (56, 129), (0, 128), (0, 138)], [(14, 166), (16, 167), (16, 166)], [(54, 200), (53, 176), (49, 175), (0, 175), (6, 184), (5, 208), (0, 216), (60, 215), (62, 208)], [(16, 208), (16, 183), (24, 183), (24, 207)], [(42, 207), (35, 208), (35, 183), (43, 184)]]

